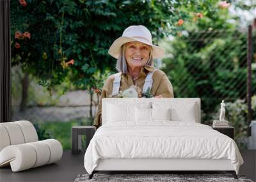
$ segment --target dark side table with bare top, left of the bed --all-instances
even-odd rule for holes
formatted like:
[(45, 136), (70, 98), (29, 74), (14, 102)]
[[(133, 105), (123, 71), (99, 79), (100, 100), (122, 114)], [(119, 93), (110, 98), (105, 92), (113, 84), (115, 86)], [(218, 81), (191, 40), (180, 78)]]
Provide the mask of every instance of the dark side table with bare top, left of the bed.
[(72, 126), (71, 136), (72, 136), (72, 154), (79, 154), (82, 149), (82, 135), (86, 136), (86, 148), (90, 143), (94, 133), (96, 131), (95, 126)]

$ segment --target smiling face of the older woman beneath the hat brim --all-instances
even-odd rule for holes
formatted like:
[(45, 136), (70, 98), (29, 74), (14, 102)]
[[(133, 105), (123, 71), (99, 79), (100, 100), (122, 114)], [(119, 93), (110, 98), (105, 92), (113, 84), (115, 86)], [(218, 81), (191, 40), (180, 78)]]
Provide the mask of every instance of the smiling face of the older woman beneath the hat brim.
[(141, 42), (125, 44), (125, 59), (129, 68), (144, 66), (150, 56), (150, 45)]

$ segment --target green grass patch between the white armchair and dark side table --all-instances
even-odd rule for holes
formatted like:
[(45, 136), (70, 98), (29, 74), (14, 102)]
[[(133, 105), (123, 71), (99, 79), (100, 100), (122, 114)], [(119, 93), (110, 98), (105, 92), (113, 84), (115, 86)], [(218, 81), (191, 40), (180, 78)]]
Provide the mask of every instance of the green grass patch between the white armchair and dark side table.
[[(62, 144), (63, 149), (71, 149), (71, 128), (72, 126), (90, 125), (92, 126), (92, 118), (81, 118), (68, 122), (52, 121), (51, 123), (36, 123), (35, 128), (38, 133), (39, 140), (56, 139)], [(85, 144), (82, 136), (83, 146)]]

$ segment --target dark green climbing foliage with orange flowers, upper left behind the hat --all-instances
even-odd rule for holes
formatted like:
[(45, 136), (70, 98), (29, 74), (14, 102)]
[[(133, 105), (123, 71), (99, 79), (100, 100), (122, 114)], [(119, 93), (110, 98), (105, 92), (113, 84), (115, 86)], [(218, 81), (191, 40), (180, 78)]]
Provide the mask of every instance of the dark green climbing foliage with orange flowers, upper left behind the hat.
[[(80, 89), (102, 87), (102, 77), (115, 72), (108, 55), (113, 40), (125, 27), (143, 24), (156, 43), (164, 35), (181, 31), (179, 19), (191, 21), (195, 12), (207, 12), (207, 1), (94, 1), (45, 0), (42, 3), (11, 2), (12, 64), (40, 78), (48, 87), (70, 78)], [(16, 31), (31, 33), (31, 39), (14, 38)], [(15, 43), (20, 48), (15, 48)], [(74, 60), (74, 65), (69, 60)]]

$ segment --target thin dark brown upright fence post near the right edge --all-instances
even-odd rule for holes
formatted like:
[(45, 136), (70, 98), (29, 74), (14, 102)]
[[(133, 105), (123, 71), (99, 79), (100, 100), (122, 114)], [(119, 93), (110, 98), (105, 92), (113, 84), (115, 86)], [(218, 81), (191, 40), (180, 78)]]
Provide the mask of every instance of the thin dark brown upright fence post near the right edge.
[(248, 26), (248, 39), (247, 39), (247, 125), (248, 125), (248, 136), (251, 135), (251, 128), (249, 127), (252, 121), (252, 25)]

